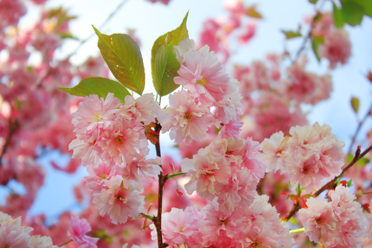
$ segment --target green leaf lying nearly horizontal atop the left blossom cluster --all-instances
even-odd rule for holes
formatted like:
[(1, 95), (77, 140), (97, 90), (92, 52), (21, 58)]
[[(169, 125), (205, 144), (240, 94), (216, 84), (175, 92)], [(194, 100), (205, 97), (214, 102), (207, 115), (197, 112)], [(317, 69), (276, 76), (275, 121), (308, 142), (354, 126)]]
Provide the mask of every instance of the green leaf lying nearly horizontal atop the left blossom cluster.
[(89, 94), (94, 94), (103, 98), (106, 98), (107, 94), (112, 92), (122, 103), (124, 103), (124, 97), (126, 95), (131, 95), (119, 82), (105, 77), (87, 77), (81, 80), (73, 88), (59, 89), (74, 96), (89, 96)]

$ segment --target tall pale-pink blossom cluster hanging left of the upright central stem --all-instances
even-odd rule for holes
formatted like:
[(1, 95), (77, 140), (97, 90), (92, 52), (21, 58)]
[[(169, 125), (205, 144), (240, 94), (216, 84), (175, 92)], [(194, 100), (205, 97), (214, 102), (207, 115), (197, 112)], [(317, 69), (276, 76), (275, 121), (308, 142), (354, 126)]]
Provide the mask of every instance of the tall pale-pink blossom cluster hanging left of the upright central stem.
[(106, 99), (86, 96), (74, 113), (77, 139), (69, 146), (73, 158), (82, 158), (87, 166), (85, 180), (93, 191), (93, 203), (99, 203), (100, 214), (109, 214), (112, 223), (138, 216), (144, 205), (142, 178), (156, 177), (162, 162), (146, 158), (144, 128), (161, 111), (154, 95), (137, 99), (128, 95), (124, 100), (122, 104), (113, 93)]

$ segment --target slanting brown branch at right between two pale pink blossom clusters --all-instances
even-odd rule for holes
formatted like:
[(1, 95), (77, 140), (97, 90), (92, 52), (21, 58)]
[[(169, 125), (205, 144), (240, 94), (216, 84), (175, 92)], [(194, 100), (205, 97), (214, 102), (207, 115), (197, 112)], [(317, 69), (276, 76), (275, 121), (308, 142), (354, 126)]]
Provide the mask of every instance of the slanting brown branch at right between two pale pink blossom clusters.
[[(341, 174), (337, 177), (335, 177), (333, 180), (325, 184), (323, 187), (321, 187), (317, 192), (314, 193), (314, 197), (317, 197), (320, 195), (324, 190), (328, 190), (330, 188), (335, 188), (337, 185), (337, 178), (340, 178), (348, 169), (350, 169), (351, 166), (355, 165), (356, 162), (359, 161), (359, 159), (363, 158), (368, 152), (372, 150), (372, 144), (369, 146), (363, 153), (360, 153), (360, 146), (358, 146), (358, 149), (355, 152), (355, 157), (353, 160), (350, 161), (348, 165), (342, 170)], [(283, 218), (284, 222), (287, 222), (289, 219), (291, 219), (292, 216), (294, 216), (298, 210), (300, 210), (301, 207), (298, 203), (293, 204), (291, 211)]]

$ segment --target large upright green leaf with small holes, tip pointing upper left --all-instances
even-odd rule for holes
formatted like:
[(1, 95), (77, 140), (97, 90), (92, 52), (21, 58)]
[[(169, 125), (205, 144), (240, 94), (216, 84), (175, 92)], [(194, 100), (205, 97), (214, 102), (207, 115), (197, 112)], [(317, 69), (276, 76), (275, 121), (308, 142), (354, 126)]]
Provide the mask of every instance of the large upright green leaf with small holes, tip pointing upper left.
[(142, 95), (145, 87), (145, 67), (137, 43), (126, 34), (101, 34), (98, 36), (98, 48), (110, 71), (118, 81)]

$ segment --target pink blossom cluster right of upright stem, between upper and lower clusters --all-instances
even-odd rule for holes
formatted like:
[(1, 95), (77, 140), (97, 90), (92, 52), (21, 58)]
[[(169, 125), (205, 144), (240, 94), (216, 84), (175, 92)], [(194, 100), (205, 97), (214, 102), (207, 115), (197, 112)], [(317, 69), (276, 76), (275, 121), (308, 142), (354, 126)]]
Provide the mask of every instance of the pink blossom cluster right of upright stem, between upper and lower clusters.
[(181, 163), (192, 178), (185, 184), (204, 200), (217, 201), (220, 210), (234, 211), (252, 203), (266, 165), (260, 162), (258, 142), (228, 137), (215, 140)]

